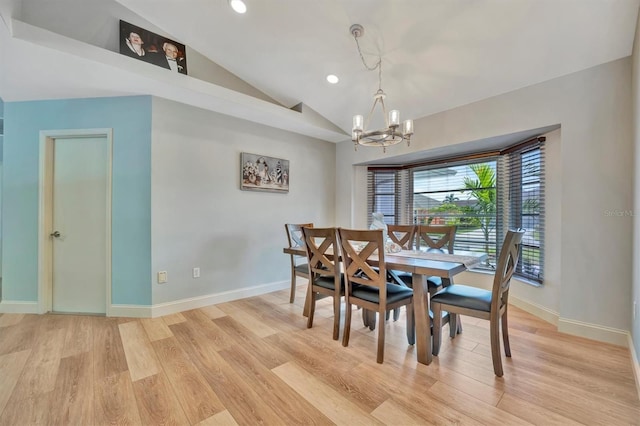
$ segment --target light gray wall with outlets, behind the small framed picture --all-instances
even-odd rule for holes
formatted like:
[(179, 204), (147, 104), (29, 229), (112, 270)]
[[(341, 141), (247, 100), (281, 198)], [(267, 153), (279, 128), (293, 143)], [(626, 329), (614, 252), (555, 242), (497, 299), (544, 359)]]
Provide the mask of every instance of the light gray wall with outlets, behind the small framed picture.
[[(286, 285), (284, 224), (334, 225), (333, 143), (160, 98), (152, 139), (152, 270), (169, 276), (154, 305)], [(241, 152), (289, 160), (289, 193), (241, 191)]]

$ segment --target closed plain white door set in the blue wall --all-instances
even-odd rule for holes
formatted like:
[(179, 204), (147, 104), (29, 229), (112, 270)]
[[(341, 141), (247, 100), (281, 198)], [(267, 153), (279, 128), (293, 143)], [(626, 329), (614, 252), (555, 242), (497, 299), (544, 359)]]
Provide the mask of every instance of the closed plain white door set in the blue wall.
[(53, 142), (54, 312), (106, 312), (108, 147), (106, 137)]

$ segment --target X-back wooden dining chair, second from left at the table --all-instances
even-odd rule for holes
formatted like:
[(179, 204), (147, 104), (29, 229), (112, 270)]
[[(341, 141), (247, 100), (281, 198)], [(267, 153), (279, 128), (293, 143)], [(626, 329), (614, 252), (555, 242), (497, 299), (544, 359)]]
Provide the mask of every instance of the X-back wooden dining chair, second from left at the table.
[(340, 299), (344, 296), (344, 275), (340, 272), (340, 246), (336, 228), (302, 228), (309, 265), (307, 328), (313, 326), (320, 295), (333, 297), (333, 340), (340, 334)]

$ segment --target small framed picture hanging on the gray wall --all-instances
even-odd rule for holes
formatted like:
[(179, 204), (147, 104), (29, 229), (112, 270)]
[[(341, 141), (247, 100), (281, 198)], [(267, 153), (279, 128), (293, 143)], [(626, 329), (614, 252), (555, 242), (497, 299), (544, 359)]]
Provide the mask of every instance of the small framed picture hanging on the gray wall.
[(289, 192), (289, 160), (241, 153), (240, 189), (244, 191)]

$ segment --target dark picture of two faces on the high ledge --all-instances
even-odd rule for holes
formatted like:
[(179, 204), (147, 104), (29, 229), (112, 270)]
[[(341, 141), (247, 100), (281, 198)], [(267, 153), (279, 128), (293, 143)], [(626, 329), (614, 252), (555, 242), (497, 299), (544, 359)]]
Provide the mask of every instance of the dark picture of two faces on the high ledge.
[(184, 44), (120, 20), (120, 53), (168, 71), (187, 74)]

